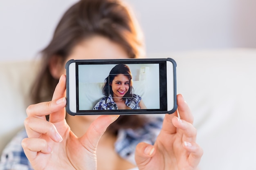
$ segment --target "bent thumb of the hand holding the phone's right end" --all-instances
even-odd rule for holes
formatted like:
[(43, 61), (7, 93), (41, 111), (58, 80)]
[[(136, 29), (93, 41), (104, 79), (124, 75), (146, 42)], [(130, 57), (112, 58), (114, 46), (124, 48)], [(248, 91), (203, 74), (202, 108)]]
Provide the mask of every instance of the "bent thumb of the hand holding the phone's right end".
[(136, 146), (135, 161), (139, 169), (144, 169), (150, 162), (151, 157), (155, 155), (155, 147), (141, 142)]

